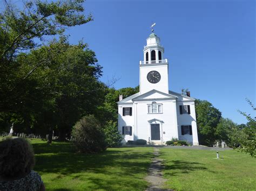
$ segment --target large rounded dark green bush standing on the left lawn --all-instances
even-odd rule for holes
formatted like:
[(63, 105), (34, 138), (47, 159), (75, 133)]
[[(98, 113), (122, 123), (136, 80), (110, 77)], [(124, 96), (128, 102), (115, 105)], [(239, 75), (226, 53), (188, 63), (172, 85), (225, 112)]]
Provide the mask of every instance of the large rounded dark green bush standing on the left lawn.
[(93, 115), (80, 119), (73, 126), (71, 135), (78, 152), (95, 153), (106, 150), (104, 132)]

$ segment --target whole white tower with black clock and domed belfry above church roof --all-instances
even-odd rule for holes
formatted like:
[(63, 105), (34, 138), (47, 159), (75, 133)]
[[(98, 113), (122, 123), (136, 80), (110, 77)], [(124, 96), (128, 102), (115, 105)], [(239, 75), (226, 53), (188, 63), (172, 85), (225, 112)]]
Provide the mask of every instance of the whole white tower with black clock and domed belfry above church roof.
[(140, 95), (152, 89), (169, 94), (168, 65), (160, 38), (154, 33), (150, 34), (144, 46), (144, 61), (139, 62)]

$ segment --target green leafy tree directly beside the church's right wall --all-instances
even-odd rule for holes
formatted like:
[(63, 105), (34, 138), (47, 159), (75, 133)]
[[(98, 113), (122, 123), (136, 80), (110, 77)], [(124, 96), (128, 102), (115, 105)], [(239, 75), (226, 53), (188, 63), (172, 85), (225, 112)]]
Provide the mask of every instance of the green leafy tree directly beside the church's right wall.
[(196, 100), (195, 104), (199, 144), (212, 146), (221, 112), (205, 100)]

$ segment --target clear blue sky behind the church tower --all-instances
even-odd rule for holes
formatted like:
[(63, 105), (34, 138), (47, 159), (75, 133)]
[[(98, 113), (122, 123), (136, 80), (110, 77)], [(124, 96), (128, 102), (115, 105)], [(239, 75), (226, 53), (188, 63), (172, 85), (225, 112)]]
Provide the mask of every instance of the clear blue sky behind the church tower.
[(246, 123), (238, 109), (255, 104), (254, 1), (87, 0), (94, 21), (66, 31), (70, 42), (84, 39), (103, 66), (102, 81), (120, 77), (114, 87), (139, 84), (139, 60), (150, 25), (169, 60), (169, 89), (211, 102), (223, 117)]

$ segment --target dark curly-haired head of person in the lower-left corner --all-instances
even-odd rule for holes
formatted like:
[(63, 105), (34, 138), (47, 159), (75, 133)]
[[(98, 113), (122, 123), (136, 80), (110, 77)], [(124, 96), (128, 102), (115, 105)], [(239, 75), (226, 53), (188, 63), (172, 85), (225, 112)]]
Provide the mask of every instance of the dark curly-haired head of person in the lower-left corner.
[(0, 176), (15, 178), (31, 171), (35, 164), (33, 148), (23, 138), (0, 142)]

